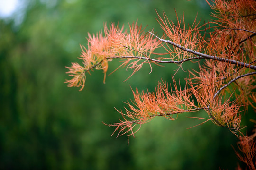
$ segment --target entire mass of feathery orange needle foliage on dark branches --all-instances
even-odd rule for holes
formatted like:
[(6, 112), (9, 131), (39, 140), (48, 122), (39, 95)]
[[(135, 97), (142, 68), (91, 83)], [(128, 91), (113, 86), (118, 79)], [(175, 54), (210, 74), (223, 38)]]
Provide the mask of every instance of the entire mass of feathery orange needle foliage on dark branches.
[[(157, 13), (157, 21), (164, 31), (161, 37), (153, 31), (146, 32), (137, 22), (128, 29), (114, 23), (105, 24), (104, 32), (88, 34), (88, 47), (81, 46), (82, 65), (72, 63), (67, 67), (67, 74), (72, 78), (65, 83), (82, 90), (86, 74), (94, 69), (103, 70), (105, 82), (113, 59), (122, 61), (118, 68), (131, 68), (132, 75), (143, 64), (150, 67), (177, 64), (182, 68), (184, 62), (203, 60), (199, 71), (189, 71), (190, 78), (185, 79), (184, 89), (173, 78), (174, 90), (169, 90), (162, 81), (155, 92), (133, 91), (134, 100), (127, 103), (125, 112), (119, 111), (123, 119), (108, 126), (116, 127), (114, 133), (118, 132), (118, 136), (134, 136), (139, 128), (133, 127), (140, 127), (157, 116), (175, 120), (178, 114), (205, 110), (209, 118), (197, 118), (204, 119), (201, 124), (210, 120), (217, 126), (229, 128), (239, 138), (238, 158), (249, 169), (256, 169), (256, 130), (247, 136), (241, 132), (240, 124), (241, 113), (247, 113), (249, 107), (256, 110), (256, 0), (207, 3), (215, 19), (204, 24), (195, 19), (192, 26), (187, 26), (184, 16), (177, 14), (177, 24), (174, 24), (164, 12)], [(166, 52), (155, 53), (157, 48)]]

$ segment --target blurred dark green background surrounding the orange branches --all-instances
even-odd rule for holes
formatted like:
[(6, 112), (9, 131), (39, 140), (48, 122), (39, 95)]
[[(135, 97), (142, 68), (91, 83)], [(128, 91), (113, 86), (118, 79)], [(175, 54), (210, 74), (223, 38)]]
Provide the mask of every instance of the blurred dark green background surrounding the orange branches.
[[(161, 79), (171, 83), (174, 65), (145, 65), (128, 81), (131, 70), (107, 76), (87, 76), (82, 92), (67, 87), (71, 62), (80, 62), (79, 44), (103, 23), (138, 23), (154, 28), (155, 9), (170, 20), (184, 12), (185, 22), (196, 15), (208, 20), (204, 0), (23, 0), (11, 17), (0, 19), (0, 169), (55, 170), (216, 170), (234, 169), (237, 158), (231, 144), (237, 138), (212, 122), (201, 123), (180, 115), (175, 121), (155, 118), (143, 125), (136, 138), (111, 136), (118, 122), (114, 109), (133, 99), (130, 86), (154, 91)], [(155, 8), (155, 9), (154, 9)], [(119, 65), (110, 64), (109, 73)], [(183, 68), (197, 68), (184, 64)], [(187, 76), (182, 70), (176, 79)], [(183, 85), (182, 85), (183, 86)]]

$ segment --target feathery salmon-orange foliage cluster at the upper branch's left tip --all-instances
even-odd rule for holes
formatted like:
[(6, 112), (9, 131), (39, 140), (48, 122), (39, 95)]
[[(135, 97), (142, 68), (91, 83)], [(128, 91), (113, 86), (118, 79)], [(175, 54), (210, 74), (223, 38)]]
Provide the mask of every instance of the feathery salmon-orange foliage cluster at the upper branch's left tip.
[(129, 25), (129, 32), (124, 30), (124, 26), (119, 28), (112, 23), (109, 28), (104, 26), (105, 35), (102, 31), (96, 35), (88, 34), (88, 49), (81, 46), (80, 59), (83, 65), (72, 63), (71, 67), (66, 67), (69, 69), (67, 73), (73, 78), (65, 83), (70, 87), (81, 86), (81, 91), (84, 87), (85, 73), (94, 68), (103, 70), (105, 83), (108, 62), (116, 58), (125, 59), (121, 66), (129, 63), (127, 68), (133, 68), (134, 72), (138, 71), (145, 62), (139, 63), (139, 59), (142, 56), (150, 58), (150, 54), (160, 45), (152, 34), (146, 34), (143, 30), (137, 22)]

